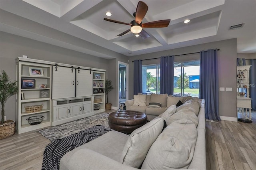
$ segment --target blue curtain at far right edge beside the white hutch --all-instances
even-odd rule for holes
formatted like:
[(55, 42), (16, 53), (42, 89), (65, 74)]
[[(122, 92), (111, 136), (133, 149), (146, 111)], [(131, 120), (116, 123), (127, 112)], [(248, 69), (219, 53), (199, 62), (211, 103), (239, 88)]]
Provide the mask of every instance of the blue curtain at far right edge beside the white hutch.
[(250, 98), (252, 99), (252, 110), (256, 111), (256, 59), (251, 59), (251, 68), (249, 71)]

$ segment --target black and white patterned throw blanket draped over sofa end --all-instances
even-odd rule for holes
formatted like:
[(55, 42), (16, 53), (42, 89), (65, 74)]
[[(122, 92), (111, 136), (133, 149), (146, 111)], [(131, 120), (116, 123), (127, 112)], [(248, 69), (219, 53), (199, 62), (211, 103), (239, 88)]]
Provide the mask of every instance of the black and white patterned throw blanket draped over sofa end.
[(98, 138), (110, 130), (104, 126), (96, 125), (62, 139), (52, 141), (44, 150), (42, 170), (58, 170), (60, 168), (60, 159), (64, 154)]

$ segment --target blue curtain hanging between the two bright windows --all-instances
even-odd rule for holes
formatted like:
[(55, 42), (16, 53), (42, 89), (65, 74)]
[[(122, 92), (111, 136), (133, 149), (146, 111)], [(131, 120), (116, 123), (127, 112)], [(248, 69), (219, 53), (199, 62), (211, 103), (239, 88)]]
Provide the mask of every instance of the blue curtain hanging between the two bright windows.
[(160, 94), (173, 95), (174, 55), (161, 57), (160, 62)]

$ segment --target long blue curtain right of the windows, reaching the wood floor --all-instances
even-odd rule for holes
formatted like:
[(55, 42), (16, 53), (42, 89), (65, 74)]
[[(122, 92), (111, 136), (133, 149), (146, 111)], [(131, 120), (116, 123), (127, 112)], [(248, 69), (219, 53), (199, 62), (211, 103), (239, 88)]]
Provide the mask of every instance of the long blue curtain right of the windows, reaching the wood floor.
[(216, 49), (200, 51), (199, 98), (205, 100), (205, 117), (221, 121), (219, 116), (218, 56)]

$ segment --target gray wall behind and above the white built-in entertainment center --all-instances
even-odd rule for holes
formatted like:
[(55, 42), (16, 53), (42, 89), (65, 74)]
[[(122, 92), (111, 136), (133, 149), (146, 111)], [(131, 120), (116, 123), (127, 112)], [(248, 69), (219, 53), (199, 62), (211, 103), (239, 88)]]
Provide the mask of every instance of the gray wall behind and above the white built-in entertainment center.
[[(117, 59), (108, 61), (107, 59), (93, 55), (80, 53), (5, 32), (0, 32), (0, 44), (0, 70), (5, 70), (12, 81), (16, 79), (15, 59), (19, 56), (27, 55), (28, 58), (32, 59), (106, 69), (106, 77), (111, 77), (113, 83), (116, 84), (116, 76), (114, 77), (112, 75), (116, 74)], [(120, 61), (127, 61), (128, 59), (128, 57), (124, 55), (118, 53), (117, 55), (120, 55), (120, 57), (118, 57), (118, 60)], [(114, 96), (114, 93), (110, 94), (111, 97), (109, 97), (109, 101), (115, 102), (117, 97)], [(5, 111), (7, 119), (15, 120), (15, 95), (7, 100)]]

